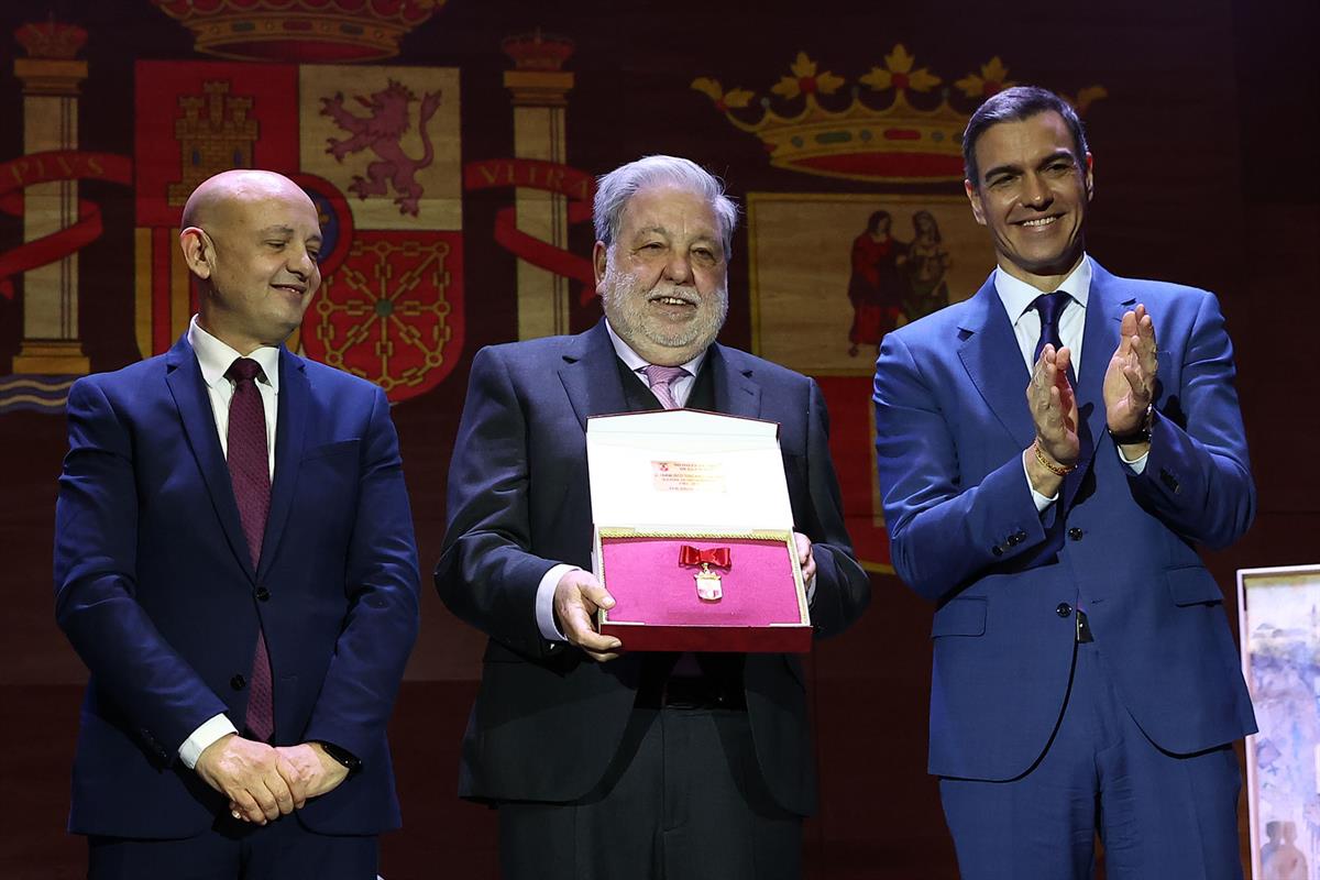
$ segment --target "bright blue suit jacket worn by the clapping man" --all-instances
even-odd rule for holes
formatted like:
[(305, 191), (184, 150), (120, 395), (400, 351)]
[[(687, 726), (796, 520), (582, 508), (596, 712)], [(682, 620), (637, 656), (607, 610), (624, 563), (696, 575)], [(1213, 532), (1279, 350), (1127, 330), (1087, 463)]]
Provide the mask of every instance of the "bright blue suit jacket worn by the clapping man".
[[(1119, 698), (1160, 748), (1196, 752), (1255, 730), (1222, 594), (1196, 553), (1239, 537), (1255, 511), (1218, 302), (1094, 269), (1077, 388), (1092, 454), (1044, 515), (1022, 466), (1035, 435), (1028, 371), (993, 276), (880, 346), (875, 445), (894, 567), (937, 604), (940, 776), (1007, 780), (1041, 755), (1072, 664), (1064, 603), (1086, 608)], [(1150, 458), (1134, 475), (1106, 433), (1101, 388), (1138, 302), (1155, 322), (1159, 373)]]

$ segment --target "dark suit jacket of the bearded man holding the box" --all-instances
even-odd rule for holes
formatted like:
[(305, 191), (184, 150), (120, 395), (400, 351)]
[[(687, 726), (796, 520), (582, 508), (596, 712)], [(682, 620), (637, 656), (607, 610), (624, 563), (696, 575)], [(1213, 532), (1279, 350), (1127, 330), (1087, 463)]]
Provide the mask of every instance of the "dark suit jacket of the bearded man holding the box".
[[(449, 474), (449, 532), (436, 587), (450, 611), (490, 636), (463, 740), (459, 793), (565, 802), (586, 794), (618, 751), (642, 657), (598, 664), (546, 643), (536, 588), (554, 565), (591, 567), (586, 420), (628, 409), (605, 322), (577, 336), (483, 348)], [(715, 409), (780, 425), (799, 532), (813, 542), (812, 623), (841, 632), (870, 599), (853, 557), (829, 458), (825, 401), (810, 379), (713, 344)], [(624, 648), (627, 645), (624, 644)], [(748, 654), (743, 670), (756, 757), (775, 800), (816, 806), (803, 669), (789, 654)]]

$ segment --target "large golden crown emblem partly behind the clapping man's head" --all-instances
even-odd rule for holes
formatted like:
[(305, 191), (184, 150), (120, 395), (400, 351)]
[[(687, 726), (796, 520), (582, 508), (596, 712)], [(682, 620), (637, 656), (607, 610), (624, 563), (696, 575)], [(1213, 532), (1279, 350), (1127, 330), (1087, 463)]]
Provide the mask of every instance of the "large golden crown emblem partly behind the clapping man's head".
[[(940, 182), (962, 179), (962, 129), (977, 106), (1015, 83), (994, 57), (979, 73), (953, 83), (958, 92), (950, 102), (944, 82), (903, 45), (884, 57), (883, 66), (849, 84), (843, 77), (821, 70), (807, 53), (797, 53), (789, 74), (771, 86), (759, 102), (762, 113), (751, 120), (747, 108), (756, 94), (746, 88), (725, 91), (719, 80), (700, 77), (692, 87), (705, 94), (737, 128), (759, 137), (770, 164), (807, 174), (878, 182)], [(846, 95), (851, 94), (851, 102)], [(883, 96), (888, 103), (882, 106)], [(1084, 112), (1104, 98), (1101, 86), (1090, 86), (1068, 98)], [(780, 110), (776, 110), (776, 106)]]

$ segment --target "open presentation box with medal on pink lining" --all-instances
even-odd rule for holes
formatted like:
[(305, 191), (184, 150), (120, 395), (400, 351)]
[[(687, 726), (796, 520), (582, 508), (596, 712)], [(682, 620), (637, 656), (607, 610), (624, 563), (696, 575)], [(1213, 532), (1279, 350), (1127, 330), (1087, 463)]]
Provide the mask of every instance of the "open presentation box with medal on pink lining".
[(626, 650), (807, 653), (779, 425), (692, 409), (587, 420), (593, 565)]

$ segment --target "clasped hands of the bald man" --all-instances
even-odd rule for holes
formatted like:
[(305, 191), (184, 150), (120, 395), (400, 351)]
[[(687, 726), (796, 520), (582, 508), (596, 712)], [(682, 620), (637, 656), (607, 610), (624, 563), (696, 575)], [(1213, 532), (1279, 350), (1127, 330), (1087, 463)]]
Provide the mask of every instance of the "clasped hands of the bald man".
[(226, 734), (202, 751), (197, 774), (230, 800), (235, 818), (265, 825), (333, 792), (348, 769), (319, 743), (272, 747)]

